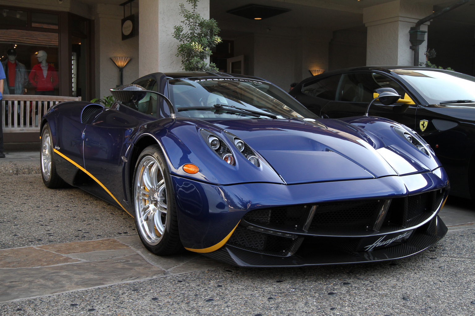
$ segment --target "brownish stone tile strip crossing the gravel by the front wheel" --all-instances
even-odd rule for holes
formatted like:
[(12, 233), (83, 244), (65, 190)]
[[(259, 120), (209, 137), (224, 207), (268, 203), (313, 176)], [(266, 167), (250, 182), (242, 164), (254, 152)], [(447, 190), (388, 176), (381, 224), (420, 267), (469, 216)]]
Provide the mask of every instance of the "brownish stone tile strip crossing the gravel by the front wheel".
[(156, 256), (138, 235), (0, 250), (0, 302), (224, 266), (195, 253)]

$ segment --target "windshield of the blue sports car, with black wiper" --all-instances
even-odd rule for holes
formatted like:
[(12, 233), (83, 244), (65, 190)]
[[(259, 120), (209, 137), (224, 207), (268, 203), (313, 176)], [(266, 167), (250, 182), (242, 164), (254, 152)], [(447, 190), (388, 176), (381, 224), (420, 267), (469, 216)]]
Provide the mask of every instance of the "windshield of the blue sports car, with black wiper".
[(315, 117), (291, 96), (254, 79), (173, 79), (169, 97), (177, 117), (288, 118)]

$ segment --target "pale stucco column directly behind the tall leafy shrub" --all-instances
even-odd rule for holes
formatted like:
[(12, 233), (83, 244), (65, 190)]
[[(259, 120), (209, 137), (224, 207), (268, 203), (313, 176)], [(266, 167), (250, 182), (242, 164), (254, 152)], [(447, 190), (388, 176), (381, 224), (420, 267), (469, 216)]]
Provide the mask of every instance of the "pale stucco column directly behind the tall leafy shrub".
[[(183, 20), (181, 2), (191, 10), (186, 1), (139, 0), (139, 76), (182, 70), (181, 58), (176, 56), (179, 42), (173, 38), (173, 27)], [(209, 18), (209, 0), (198, 2), (198, 13)]]

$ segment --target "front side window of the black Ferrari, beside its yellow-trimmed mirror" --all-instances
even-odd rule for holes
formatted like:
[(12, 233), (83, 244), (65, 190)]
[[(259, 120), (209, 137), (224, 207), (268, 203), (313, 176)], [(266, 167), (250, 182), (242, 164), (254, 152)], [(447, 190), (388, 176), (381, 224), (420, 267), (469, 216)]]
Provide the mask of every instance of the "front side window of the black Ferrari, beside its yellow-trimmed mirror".
[(393, 88), (404, 97), (405, 91), (392, 79), (375, 72), (354, 72), (342, 75), (336, 93), (337, 101), (370, 102), (378, 88)]

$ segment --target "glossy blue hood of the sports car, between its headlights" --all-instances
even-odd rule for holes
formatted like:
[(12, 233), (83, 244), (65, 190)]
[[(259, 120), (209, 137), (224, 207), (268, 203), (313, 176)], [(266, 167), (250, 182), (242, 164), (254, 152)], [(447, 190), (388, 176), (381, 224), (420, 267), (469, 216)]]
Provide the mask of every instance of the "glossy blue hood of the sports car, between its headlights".
[[(257, 151), (287, 184), (373, 179), (428, 172), (406, 151), (408, 143), (390, 142), (340, 120), (227, 120), (215, 125), (240, 137)], [(407, 144), (412, 146), (412, 144)], [(410, 148), (409, 148), (410, 149)], [(417, 150), (417, 149), (416, 149)]]

